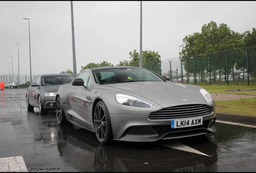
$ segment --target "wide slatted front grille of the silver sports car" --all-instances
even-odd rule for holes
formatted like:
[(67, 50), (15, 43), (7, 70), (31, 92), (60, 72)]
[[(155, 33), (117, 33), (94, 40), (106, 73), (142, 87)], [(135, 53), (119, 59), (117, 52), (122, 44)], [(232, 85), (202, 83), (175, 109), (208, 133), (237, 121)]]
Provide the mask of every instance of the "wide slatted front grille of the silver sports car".
[(149, 119), (173, 119), (211, 114), (213, 107), (207, 105), (180, 105), (152, 112)]

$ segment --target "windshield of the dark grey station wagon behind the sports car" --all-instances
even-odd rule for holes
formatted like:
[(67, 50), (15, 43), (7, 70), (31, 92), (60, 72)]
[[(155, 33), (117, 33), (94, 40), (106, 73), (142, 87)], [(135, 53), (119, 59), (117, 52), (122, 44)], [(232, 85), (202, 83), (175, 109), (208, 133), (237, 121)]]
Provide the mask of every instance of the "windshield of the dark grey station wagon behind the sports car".
[(42, 86), (45, 85), (56, 85), (56, 84), (68, 84), (72, 82), (74, 76), (43, 76), (42, 77)]

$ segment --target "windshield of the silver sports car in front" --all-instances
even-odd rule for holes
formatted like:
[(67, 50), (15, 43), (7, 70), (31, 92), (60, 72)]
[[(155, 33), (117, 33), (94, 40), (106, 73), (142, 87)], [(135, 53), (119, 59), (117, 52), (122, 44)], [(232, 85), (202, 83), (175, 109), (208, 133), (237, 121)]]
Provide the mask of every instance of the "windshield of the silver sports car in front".
[(97, 84), (136, 81), (165, 81), (157, 74), (143, 68), (107, 68), (93, 70)]

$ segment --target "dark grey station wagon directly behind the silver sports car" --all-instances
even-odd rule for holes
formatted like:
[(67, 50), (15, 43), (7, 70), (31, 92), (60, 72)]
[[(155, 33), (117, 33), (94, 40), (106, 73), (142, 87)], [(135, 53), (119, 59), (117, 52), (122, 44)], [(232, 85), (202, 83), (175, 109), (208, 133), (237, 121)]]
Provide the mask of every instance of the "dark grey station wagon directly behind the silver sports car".
[(74, 76), (65, 74), (41, 74), (33, 78), (31, 85), (27, 88), (26, 106), (27, 110), (37, 107), (40, 114), (55, 111), (55, 96), (62, 84), (68, 84)]

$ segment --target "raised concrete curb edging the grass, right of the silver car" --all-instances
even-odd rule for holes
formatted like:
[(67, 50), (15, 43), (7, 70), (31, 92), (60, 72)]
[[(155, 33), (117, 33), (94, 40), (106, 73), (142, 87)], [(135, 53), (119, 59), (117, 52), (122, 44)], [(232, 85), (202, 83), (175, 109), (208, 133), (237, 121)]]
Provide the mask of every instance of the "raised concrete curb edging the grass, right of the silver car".
[(246, 125), (256, 125), (256, 116), (253, 115), (239, 115), (216, 112), (216, 120), (231, 121), (234, 123), (243, 123)]

